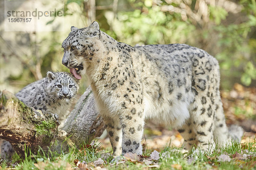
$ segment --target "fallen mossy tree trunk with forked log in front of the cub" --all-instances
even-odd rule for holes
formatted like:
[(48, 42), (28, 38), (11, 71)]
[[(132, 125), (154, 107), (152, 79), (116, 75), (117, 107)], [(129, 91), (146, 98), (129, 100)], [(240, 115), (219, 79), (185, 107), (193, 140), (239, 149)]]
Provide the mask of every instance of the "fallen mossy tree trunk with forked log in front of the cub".
[(47, 151), (65, 151), (69, 145), (79, 146), (84, 140), (100, 136), (105, 129), (91, 88), (80, 97), (64, 127), (58, 132), (58, 116), (42, 113), (26, 106), (8, 91), (0, 92), (0, 138), (9, 141), (24, 156), (24, 145), (37, 153), (39, 146)]

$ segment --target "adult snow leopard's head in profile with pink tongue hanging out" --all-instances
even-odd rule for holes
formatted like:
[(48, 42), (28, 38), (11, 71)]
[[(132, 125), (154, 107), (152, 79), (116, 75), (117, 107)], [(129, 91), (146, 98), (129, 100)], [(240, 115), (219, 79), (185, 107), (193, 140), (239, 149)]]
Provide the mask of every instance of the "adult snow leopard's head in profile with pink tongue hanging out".
[(97, 43), (100, 42), (99, 37), (99, 24), (95, 21), (86, 28), (71, 27), (70, 34), (63, 41), (62, 64), (70, 68), (70, 72), (76, 79), (81, 79), (81, 75), (85, 74), (86, 64), (92, 62), (94, 55), (99, 51), (97, 48)]

